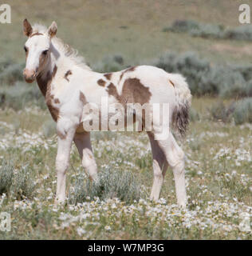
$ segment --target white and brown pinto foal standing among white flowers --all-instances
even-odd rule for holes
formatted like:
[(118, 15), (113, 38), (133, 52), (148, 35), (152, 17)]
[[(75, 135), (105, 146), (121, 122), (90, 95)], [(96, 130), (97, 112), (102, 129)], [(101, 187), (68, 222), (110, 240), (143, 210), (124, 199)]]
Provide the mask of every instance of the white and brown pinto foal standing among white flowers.
[[(92, 102), (100, 106), (102, 97), (108, 97), (109, 104), (168, 103), (168, 119), (171, 126), (180, 134), (185, 132), (191, 93), (181, 75), (168, 74), (155, 66), (136, 66), (108, 74), (96, 73), (85, 65), (70, 46), (55, 36), (56, 22), (47, 29), (41, 25), (32, 27), (25, 19), (23, 30), (28, 37), (25, 44), (24, 78), (26, 82), (37, 80), (49, 112), (57, 122), (56, 202), (65, 201), (65, 174), (73, 142), (89, 177), (97, 179), (90, 133), (84, 129), (82, 122), (85, 118), (83, 109), (86, 103)], [(153, 115), (155, 117), (155, 114)], [(136, 114), (135, 118), (143, 120)], [(179, 206), (186, 206), (183, 150), (175, 142), (170, 131), (167, 138), (158, 139), (160, 127), (155, 120), (153, 118), (152, 130), (148, 131), (154, 171), (151, 198), (159, 198), (167, 166), (171, 166), (175, 177), (177, 202)]]

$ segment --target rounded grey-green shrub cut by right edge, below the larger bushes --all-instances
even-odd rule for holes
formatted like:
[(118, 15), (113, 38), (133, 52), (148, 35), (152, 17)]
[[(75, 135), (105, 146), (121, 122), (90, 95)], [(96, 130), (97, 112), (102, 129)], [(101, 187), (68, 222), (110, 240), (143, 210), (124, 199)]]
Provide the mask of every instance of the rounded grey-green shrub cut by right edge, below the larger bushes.
[(235, 124), (242, 124), (244, 122), (252, 123), (252, 98), (244, 98), (236, 103), (234, 109)]

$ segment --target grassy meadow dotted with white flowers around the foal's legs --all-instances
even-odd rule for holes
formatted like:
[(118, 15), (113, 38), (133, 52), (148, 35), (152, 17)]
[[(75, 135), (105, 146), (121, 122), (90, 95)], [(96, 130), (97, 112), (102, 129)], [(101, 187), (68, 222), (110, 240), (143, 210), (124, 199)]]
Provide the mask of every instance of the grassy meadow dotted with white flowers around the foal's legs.
[[(144, 133), (93, 134), (99, 169), (111, 167), (134, 174), (136, 184), (140, 184), (140, 201), (125, 204), (119, 199), (88, 197), (71, 204), (77, 180), (88, 179), (73, 146), (67, 174), (69, 202), (54, 207), (56, 137), (45, 136), (45, 130), (53, 129), (49, 114), (36, 108), (19, 113), (1, 111), (1, 158), (12, 162), (14, 187), (9, 198), (2, 195), (0, 199), (1, 210), (12, 218), (12, 230), (0, 232), (0, 238), (251, 238), (251, 233), (241, 231), (239, 225), (242, 213), (251, 213), (252, 126), (210, 122), (206, 109), (212, 103), (209, 98), (194, 100), (200, 119), (191, 122), (182, 145), (187, 155), (187, 210), (175, 205), (171, 170), (167, 171), (159, 202), (148, 200), (152, 154)], [(22, 181), (18, 173), (27, 178), (19, 190), (15, 187)], [(22, 193), (27, 198), (20, 198)]]

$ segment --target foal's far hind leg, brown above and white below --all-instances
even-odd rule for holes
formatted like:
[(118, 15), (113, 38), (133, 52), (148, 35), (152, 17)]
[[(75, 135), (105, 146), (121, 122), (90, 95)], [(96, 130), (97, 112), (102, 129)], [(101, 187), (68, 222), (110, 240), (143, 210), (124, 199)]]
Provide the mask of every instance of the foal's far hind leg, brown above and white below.
[(163, 178), (167, 171), (167, 160), (161, 150), (158, 142), (154, 139), (154, 135), (148, 132), (148, 137), (152, 146), (152, 158), (153, 158), (153, 173), (154, 180), (152, 186), (151, 199), (158, 200), (160, 190), (163, 184)]

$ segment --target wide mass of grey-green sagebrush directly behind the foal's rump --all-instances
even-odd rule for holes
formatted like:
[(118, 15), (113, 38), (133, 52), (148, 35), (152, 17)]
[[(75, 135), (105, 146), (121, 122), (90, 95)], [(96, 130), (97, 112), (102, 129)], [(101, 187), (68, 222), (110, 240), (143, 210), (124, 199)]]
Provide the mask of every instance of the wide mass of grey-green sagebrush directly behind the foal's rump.
[(151, 64), (169, 73), (183, 74), (196, 96), (242, 98), (252, 94), (252, 66), (211, 66), (192, 52), (166, 53)]

